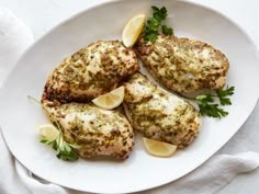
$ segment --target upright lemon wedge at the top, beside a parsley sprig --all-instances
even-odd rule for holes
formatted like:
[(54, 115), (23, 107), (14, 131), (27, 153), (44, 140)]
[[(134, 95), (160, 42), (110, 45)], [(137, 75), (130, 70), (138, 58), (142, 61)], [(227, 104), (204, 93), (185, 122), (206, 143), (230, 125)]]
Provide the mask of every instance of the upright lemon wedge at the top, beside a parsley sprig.
[(126, 23), (122, 32), (122, 42), (124, 46), (132, 47), (135, 44), (142, 33), (145, 20), (145, 14), (137, 14)]

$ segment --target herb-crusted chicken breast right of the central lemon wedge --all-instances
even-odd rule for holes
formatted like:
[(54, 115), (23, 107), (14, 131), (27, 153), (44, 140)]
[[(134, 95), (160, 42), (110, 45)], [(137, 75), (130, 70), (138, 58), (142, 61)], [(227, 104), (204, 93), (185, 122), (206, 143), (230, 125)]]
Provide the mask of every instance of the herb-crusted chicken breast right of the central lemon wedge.
[(193, 141), (201, 119), (190, 103), (156, 87), (138, 72), (124, 85), (124, 109), (134, 129), (179, 148)]

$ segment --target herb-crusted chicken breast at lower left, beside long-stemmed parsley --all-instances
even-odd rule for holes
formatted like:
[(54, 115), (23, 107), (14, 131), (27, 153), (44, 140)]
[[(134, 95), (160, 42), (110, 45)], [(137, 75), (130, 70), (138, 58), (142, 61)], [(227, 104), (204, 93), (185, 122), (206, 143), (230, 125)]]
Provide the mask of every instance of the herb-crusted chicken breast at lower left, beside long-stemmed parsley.
[(93, 104), (42, 101), (59, 123), (64, 139), (77, 144), (77, 153), (82, 158), (110, 156), (117, 159), (128, 157), (134, 145), (134, 134), (126, 117), (119, 111), (104, 111)]

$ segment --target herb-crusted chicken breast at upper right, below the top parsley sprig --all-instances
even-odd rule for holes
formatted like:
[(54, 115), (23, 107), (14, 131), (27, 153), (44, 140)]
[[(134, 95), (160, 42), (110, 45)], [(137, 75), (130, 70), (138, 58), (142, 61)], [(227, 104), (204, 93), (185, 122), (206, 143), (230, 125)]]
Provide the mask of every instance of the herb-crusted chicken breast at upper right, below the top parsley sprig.
[(135, 49), (150, 75), (176, 92), (191, 93), (225, 85), (228, 59), (206, 43), (159, 35), (155, 43), (142, 38)]

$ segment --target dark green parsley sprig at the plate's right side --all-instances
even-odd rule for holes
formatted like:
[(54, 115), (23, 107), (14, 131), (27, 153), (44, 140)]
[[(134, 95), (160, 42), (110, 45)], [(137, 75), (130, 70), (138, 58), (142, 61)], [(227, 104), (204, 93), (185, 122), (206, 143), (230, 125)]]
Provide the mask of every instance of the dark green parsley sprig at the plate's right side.
[[(235, 87), (216, 90), (214, 93), (201, 94), (194, 98), (196, 101), (200, 113), (203, 116), (222, 118), (228, 115), (228, 112), (223, 110), (219, 105), (232, 105), (232, 101), (229, 99), (230, 95), (234, 94)], [(219, 101), (219, 104), (215, 102)]]

